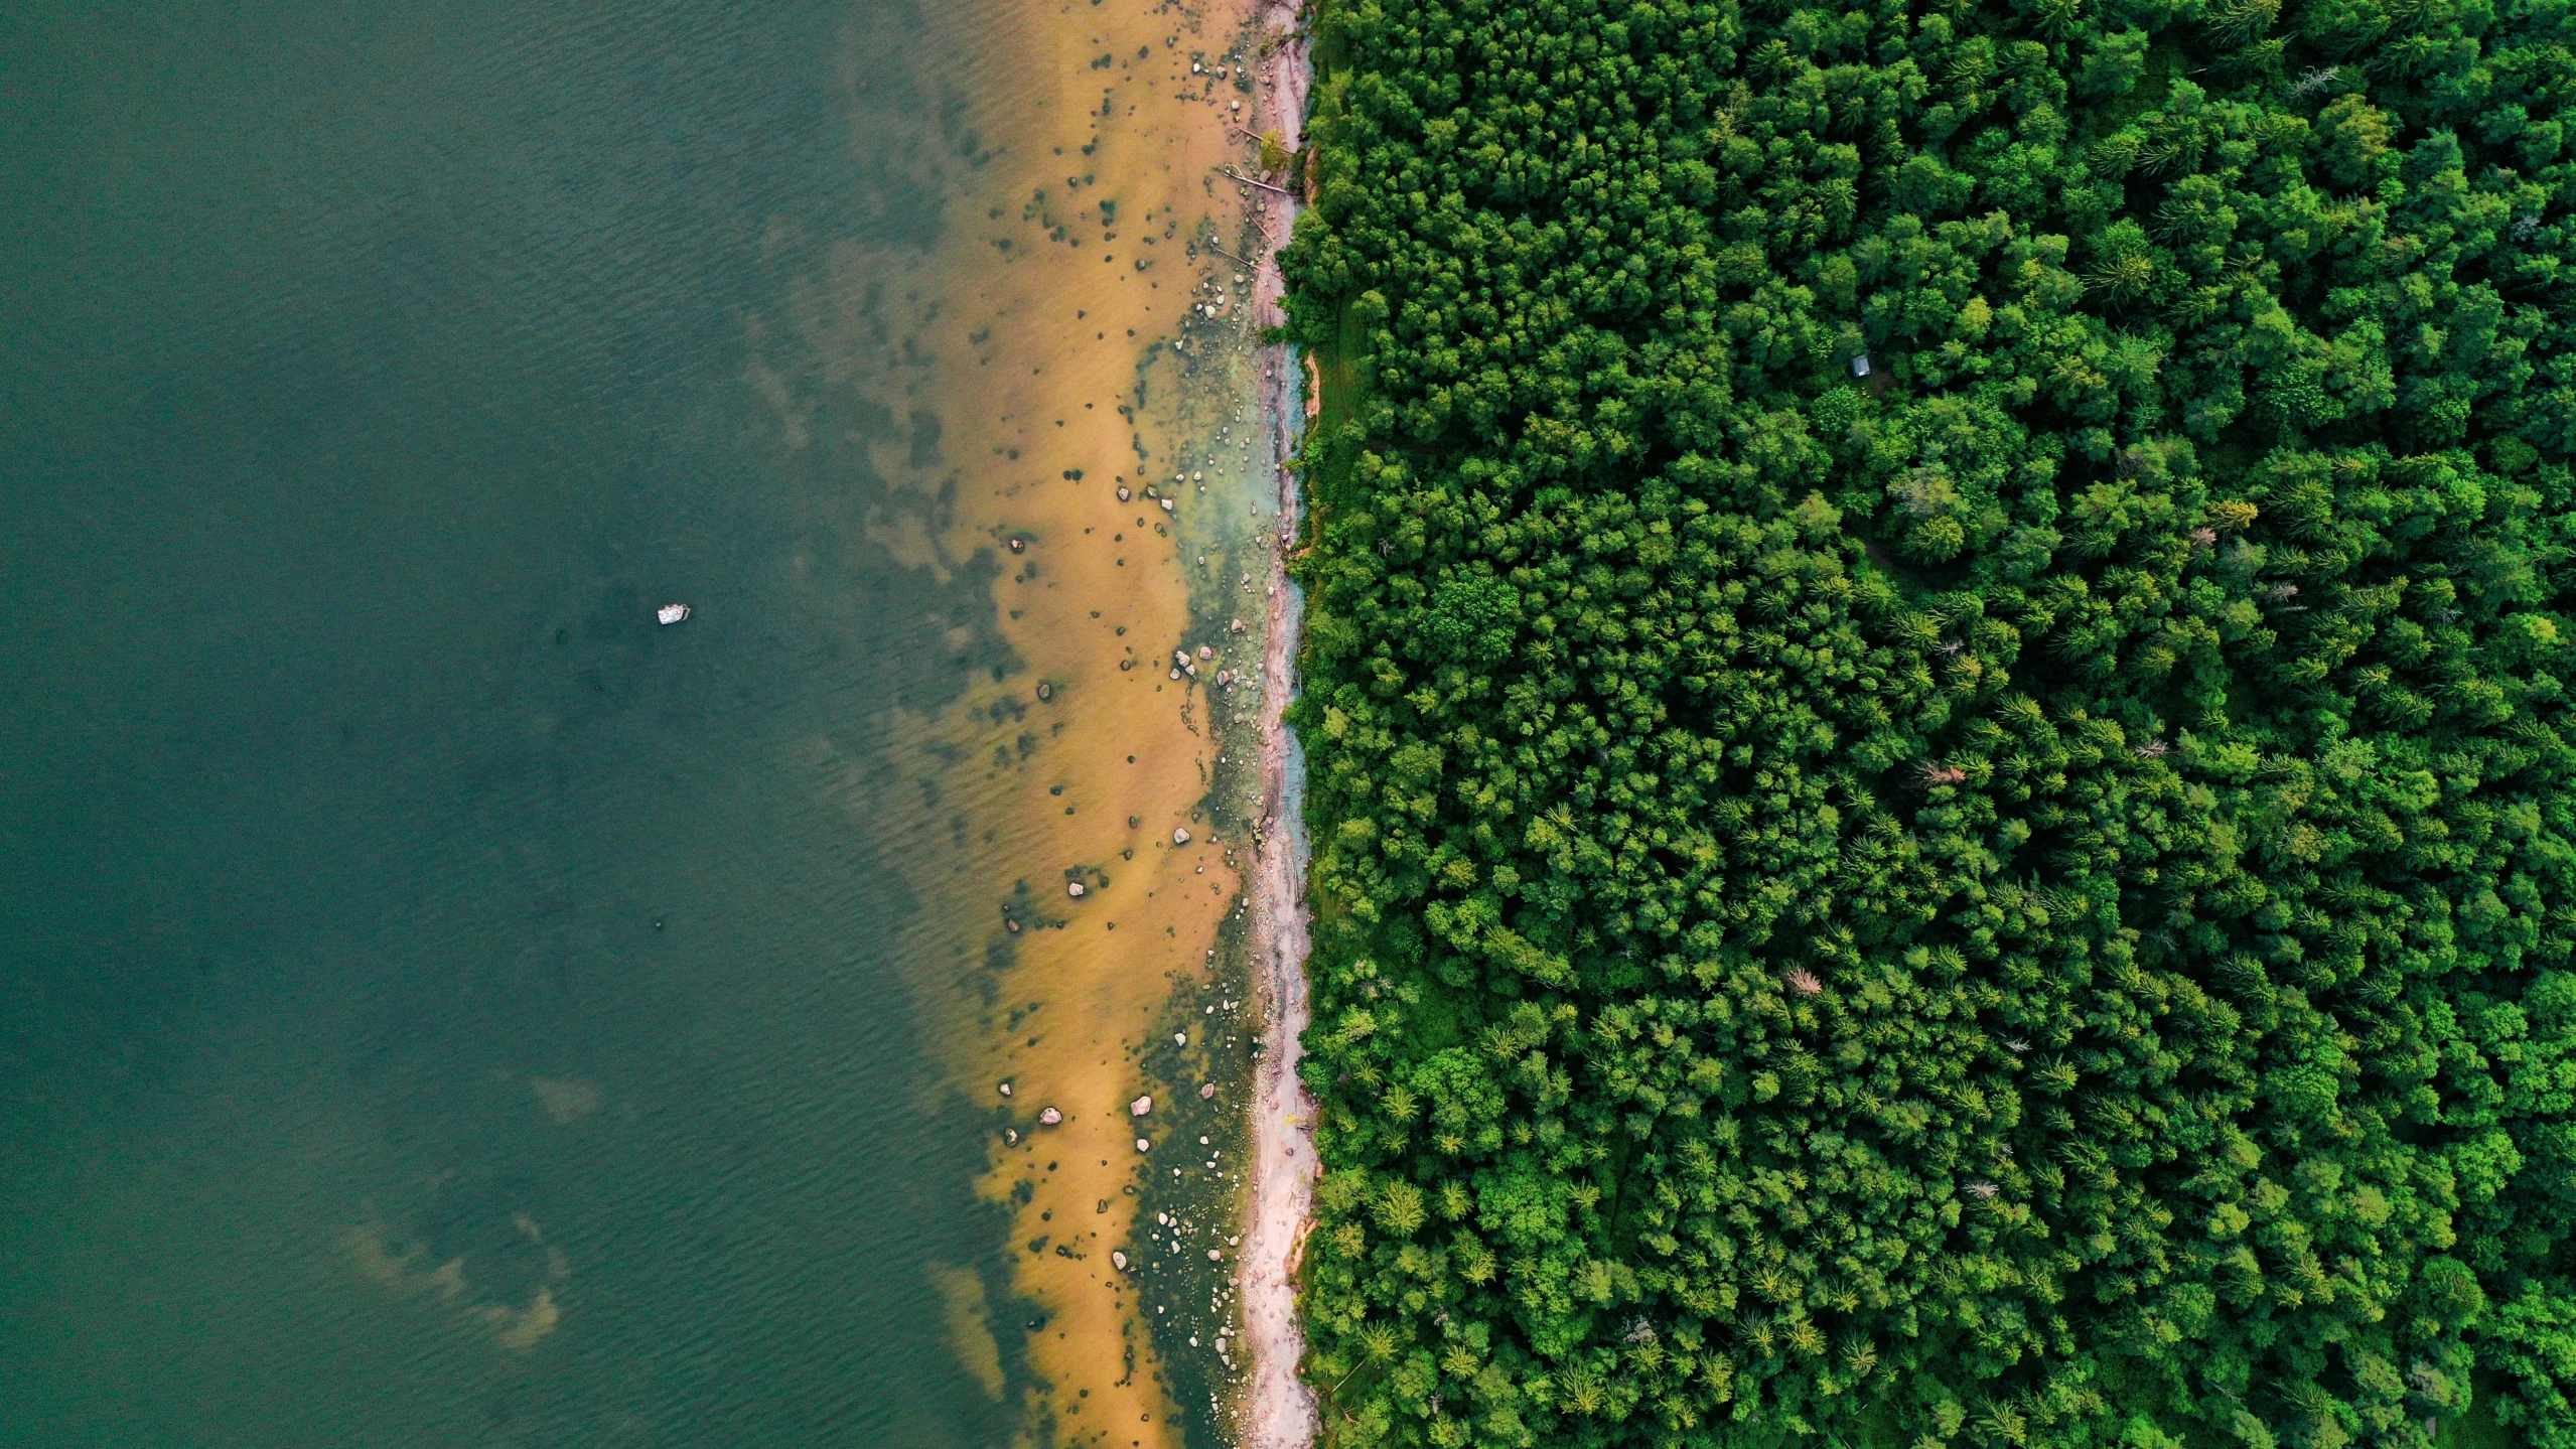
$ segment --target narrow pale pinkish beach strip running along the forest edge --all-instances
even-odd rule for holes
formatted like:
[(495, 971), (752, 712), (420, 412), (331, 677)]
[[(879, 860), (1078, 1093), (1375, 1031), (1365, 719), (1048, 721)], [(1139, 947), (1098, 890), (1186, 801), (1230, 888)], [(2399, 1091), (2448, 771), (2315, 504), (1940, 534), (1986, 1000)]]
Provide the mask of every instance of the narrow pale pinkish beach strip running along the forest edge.
[[(1267, 41), (1255, 90), (1255, 126), (1273, 121), (1291, 152), (1306, 144), (1306, 90), (1314, 80), (1309, 36), (1298, 28), (1298, 5), (1257, 0), (1255, 28)], [(1260, 255), (1252, 268), (1257, 319), (1262, 327), (1285, 322), (1280, 306), (1285, 281), (1278, 247), (1296, 226), (1301, 201), (1283, 196), (1260, 224)], [(1252, 849), (1252, 973), (1260, 1004), (1262, 1053), (1252, 1091), (1252, 1194), (1244, 1223), (1239, 1277), (1242, 1333), (1249, 1343), (1252, 1374), (1242, 1403), (1244, 1449), (1306, 1449), (1316, 1441), (1319, 1416), (1314, 1390), (1298, 1377), (1306, 1333), (1298, 1320), (1296, 1269), (1314, 1215), (1314, 1099), (1298, 1081), (1301, 1037), (1306, 1032), (1306, 757), (1288, 728), (1285, 708), (1296, 695), (1296, 656), (1303, 597), (1288, 579), (1288, 551), (1298, 533), (1298, 479), (1288, 468), (1306, 427), (1311, 399), (1298, 389), (1303, 363), (1285, 342), (1257, 353), (1260, 422), (1265, 463), (1278, 484), (1280, 533), (1267, 551), (1267, 628), (1262, 649), (1262, 806)]]

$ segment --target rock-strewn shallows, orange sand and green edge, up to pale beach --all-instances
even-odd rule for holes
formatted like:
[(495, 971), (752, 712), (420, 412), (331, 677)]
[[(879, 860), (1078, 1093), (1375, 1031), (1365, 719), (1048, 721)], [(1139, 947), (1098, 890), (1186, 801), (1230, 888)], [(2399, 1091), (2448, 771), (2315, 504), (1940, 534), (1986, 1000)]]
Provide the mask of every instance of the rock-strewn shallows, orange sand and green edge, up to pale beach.
[(907, 721), (909, 770), (863, 808), (904, 821), (907, 885), (940, 901), (902, 950), (1007, 1223), (997, 1261), (933, 1274), (935, 1307), (1028, 1444), (1231, 1441), (1249, 1380), (1229, 1338), (1267, 695), (1262, 638), (1229, 620), (1262, 618), (1244, 595), (1275, 571), (1278, 471), (1234, 281), (1255, 268), (1200, 242), (1252, 257), (1267, 211), (1213, 180), (1260, 103), (1257, 3), (943, 13), (953, 54), (1025, 21), (958, 113), (1012, 144), (963, 162), (956, 245), (827, 252), (773, 324), (804, 350), (760, 378), (801, 445), (871, 417), (817, 412), (801, 378), (909, 414), (873, 463), (914, 507), (871, 538), (992, 574), (1002, 669)]

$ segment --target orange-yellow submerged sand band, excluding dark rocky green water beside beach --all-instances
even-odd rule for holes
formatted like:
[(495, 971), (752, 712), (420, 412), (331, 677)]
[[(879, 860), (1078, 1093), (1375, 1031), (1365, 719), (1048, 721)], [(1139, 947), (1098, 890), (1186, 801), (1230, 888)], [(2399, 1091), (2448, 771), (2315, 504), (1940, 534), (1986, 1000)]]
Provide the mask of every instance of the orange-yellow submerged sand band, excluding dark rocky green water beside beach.
[[(1172, 337), (1198, 301), (1195, 283), (1218, 275), (1229, 299), (1242, 288), (1236, 265), (1193, 263), (1182, 247), (1203, 219), (1234, 234), (1249, 201), (1213, 167), (1249, 154), (1231, 134), (1234, 118), (1252, 129), (1262, 121), (1231, 82), (1190, 75), (1193, 51), (1213, 69), (1239, 39), (1234, 10), (1203, 26), (1177, 8), (1131, 0), (933, 10), (933, 28), (948, 31), (933, 49), (979, 64), (953, 98), (925, 103), (961, 103), (997, 154), (971, 170), (938, 162), (945, 188), (966, 188), (948, 203), (938, 247), (835, 247), (811, 275), (793, 278), (783, 314), (747, 319), (752, 355), (765, 358), (752, 383), (775, 407), (781, 440), (799, 450), (832, 443), (817, 438), (829, 417), (814, 404), (817, 386), (853, 389), (894, 417), (938, 414), (938, 461), (922, 463), (891, 440), (873, 448), (873, 466), (914, 489), (920, 507), (886, 510), (868, 533), (907, 564), (948, 571), (981, 551), (1002, 566), (997, 623), (1025, 669), (999, 682), (984, 674), (956, 705), (904, 721), (902, 780), (863, 782), (860, 798), (876, 829), (920, 844), (899, 852), (920, 901), (920, 927), (902, 945), (927, 1035), (945, 1045), (956, 1086), (979, 1109), (1002, 1102), (994, 1084), (1015, 1084), (1010, 1107), (1025, 1135), (1012, 1148), (994, 1143), (984, 1189), (1010, 1202), (1015, 1184), (1033, 1184), (1033, 1199), (1018, 1207), (1012, 1287), (1046, 1313), (1030, 1343), (1038, 1408), (1066, 1444), (1151, 1449), (1177, 1439), (1172, 1403), (1154, 1377), (1136, 1292), (1110, 1264), (1110, 1251), (1131, 1243), (1133, 1143), (1139, 1132), (1159, 1138), (1151, 1117), (1133, 1122), (1126, 1112), (1144, 1089), (1131, 1050), (1175, 981), (1206, 970), (1236, 878), (1208, 826), (1188, 818), (1216, 754), (1206, 734), (1211, 685), (1170, 679), (1188, 625), (1185, 564), (1195, 556), (1177, 553), (1182, 520), (1141, 486), (1188, 468), (1172, 456), (1180, 438), (1159, 427), (1180, 391)], [(1113, 64), (1095, 64), (1100, 57)], [(1244, 100), (1244, 111), (1229, 100)], [(1095, 134), (1095, 154), (1082, 154)], [(855, 136), (860, 147), (876, 142)], [(1069, 178), (1092, 180), (1069, 188)], [(1100, 219), (1103, 198), (1118, 203), (1113, 224)], [(1064, 239), (1048, 237), (1056, 224)], [(1139, 257), (1151, 268), (1139, 273)], [(796, 376), (781, 358), (796, 360)], [(1149, 404), (1133, 427), (1154, 453), (1151, 474), (1141, 474), (1121, 414), (1139, 378)], [(1064, 479), (1069, 468), (1084, 476)], [(1128, 504), (1115, 499), (1121, 476), (1139, 489)], [(1198, 486), (1180, 494), (1182, 512), (1247, 502)], [(1221, 656), (1200, 664), (1200, 679), (1213, 682), (1218, 667), (1257, 667), (1249, 646), (1226, 651), (1239, 641), (1206, 643)], [(1046, 703), (1036, 697), (1041, 682), (1054, 692)], [(1007, 705), (999, 721), (997, 703)], [(1025, 757), (1023, 739), (1033, 741)], [(1190, 844), (1175, 847), (1177, 826), (1190, 826)], [(1087, 896), (1066, 896), (1069, 867), (1092, 872)], [(1023, 880), (1028, 903), (1066, 927), (1010, 934), (1018, 965), (1002, 975), (1002, 999), (987, 1001), (987, 947), (1005, 932), (1002, 903)], [(1030, 1004), (1038, 1009), (1012, 1024), (1010, 1009)], [(1061, 1109), (1064, 1125), (1033, 1127), (1041, 1107)], [(1146, 1163), (1162, 1171), (1177, 1163), (1177, 1148), (1157, 1143)], [(1038, 1235), (1048, 1248), (1028, 1253)], [(922, 1310), (943, 1313), (961, 1359), (999, 1387), (987, 1302), (969, 1282), (938, 1274)]]

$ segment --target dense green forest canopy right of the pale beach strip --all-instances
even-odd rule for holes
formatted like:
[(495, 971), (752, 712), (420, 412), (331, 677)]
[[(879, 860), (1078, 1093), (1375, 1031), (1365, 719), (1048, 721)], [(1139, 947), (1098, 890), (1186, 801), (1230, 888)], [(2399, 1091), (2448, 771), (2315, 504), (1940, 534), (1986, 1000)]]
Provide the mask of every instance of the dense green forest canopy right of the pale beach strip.
[(1329, 0), (1342, 1449), (2576, 1449), (2576, 5)]

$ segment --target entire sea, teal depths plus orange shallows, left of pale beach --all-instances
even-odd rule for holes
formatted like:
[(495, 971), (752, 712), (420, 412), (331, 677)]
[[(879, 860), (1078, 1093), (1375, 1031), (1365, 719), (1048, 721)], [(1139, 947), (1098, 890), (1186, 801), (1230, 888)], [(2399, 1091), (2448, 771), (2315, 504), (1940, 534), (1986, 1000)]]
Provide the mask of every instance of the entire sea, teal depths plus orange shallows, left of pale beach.
[(1157, 1444), (1211, 1390), (1100, 1259), (1177, 1192), (1126, 1096), (1247, 1048), (1146, 1050), (1234, 906), (1247, 703), (1162, 667), (1267, 481), (1234, 311), (1170, 350), (1226, 44), (0, 21), (0, 1444)]

